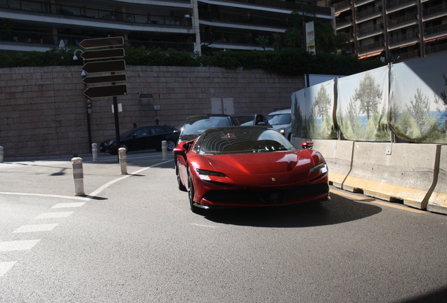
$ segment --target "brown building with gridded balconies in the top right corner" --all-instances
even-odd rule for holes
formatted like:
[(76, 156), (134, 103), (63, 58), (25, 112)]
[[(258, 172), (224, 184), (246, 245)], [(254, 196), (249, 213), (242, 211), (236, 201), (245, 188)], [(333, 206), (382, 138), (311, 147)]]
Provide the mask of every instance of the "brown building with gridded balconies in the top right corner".
[(393, 62), (447, 51), (446, 0), (334, 0), (334, 27), (359, 58)]

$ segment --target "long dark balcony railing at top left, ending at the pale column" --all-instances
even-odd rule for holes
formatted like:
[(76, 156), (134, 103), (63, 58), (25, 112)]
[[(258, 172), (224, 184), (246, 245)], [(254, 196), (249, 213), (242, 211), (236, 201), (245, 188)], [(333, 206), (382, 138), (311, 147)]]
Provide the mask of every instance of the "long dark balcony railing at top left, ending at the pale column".
[(115, 22), (138, 25), (176, 25), (192, 27), (191, 18), (172, 15), (153, 15), (120, 13), (86, 6), (67, 6), (25, 0), (0, 0), (0, 11), (14, 11), (28, 15), (46, 15), (51, 17), (89, 20), (96, 22)]

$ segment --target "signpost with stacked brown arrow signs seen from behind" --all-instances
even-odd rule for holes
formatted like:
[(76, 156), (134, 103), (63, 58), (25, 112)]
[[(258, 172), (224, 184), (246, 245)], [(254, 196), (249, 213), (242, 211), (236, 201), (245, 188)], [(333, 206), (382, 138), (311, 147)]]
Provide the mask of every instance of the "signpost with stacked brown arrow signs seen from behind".
[[(123, 46), (124, 39), (122, 36), (85, 39), (79, 43), (80, 46), (87, 49), (81, 57), (84, 60), (101, 60), (124, 57), (124, 48), (112, 48), (113, 46)], [(106, 48), (101, 50), (94, 50), (94, 48)], [(90, 50), (92, 49), (93, 50)], [(115, 136), (117, 140), (117, 149), (121, 146), (119, 141), (119, 121), (118, 121), (118, 105), (117, 96), (127, 95), (127, 85), (115, 85), (115, 82), (127, 81), (125, 74), (115, 74), (115, 72), (124, 72), (126, 70), (126, 62), (124, 60), (107, 60), (87, 62), (82, 70), (88, 74), (101, 74), (110, 72), (110, 75), (105, 76), (91, 76), (86, 77), (82, 82), (86, 85), (97, 83), (111, 83), (109, 86), (86, 86), (84, 95), (87, 97), (87, 111), (91, 112), (91, 99), (96, 97), (113, 97), (113, 109), (115, 116)], [(118, 151), (117, 151), (118, 155)], [(119, 161), (119, 156), (118, 156)]]

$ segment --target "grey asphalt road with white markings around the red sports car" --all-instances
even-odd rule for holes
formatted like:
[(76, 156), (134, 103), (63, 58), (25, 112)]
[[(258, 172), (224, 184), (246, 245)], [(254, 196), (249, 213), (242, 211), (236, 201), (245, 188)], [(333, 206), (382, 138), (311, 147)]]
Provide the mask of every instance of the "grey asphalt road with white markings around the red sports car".
[(447, 302), (447, 216), (331, 187), (195, 215), (160, 152), (0, 163), (0, 302)]

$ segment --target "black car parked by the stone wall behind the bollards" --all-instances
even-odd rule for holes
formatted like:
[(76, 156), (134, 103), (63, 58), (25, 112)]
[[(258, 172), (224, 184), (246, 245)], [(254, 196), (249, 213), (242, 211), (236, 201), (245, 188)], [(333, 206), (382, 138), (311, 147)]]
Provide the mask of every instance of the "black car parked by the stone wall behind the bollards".
[[(174, 133), (176, 128), (172, 126), (143, 126), (134, 128), (126, 135), (119, 138), (120, 147), (127, 149), (127, 152), (144, 149), (162, 150), (162, 141), (167, 141), (167, 149), (172, 150), (176, 146), (179, 134)], [(117, 154), (117, 140), (107, 140), (100, 144), (101, 152)]]

